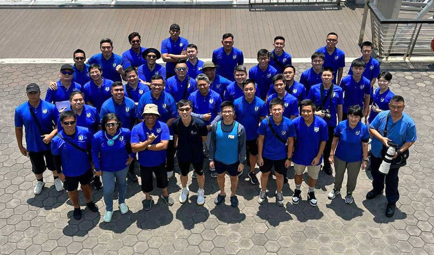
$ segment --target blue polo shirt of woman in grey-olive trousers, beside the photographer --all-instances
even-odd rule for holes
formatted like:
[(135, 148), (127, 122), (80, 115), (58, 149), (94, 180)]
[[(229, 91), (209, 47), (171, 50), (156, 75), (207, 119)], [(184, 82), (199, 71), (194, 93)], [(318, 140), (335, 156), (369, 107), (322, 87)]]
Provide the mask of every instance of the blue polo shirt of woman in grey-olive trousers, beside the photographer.
[(339, 137), (335, 156), (345, 162), (358, 162), (363, 159), (362, 141), (368, 142), (368, 126), (361, 121), (355, 128), (351, 128), (348, 119), (338, 123), (335, 127), (335, 137)]

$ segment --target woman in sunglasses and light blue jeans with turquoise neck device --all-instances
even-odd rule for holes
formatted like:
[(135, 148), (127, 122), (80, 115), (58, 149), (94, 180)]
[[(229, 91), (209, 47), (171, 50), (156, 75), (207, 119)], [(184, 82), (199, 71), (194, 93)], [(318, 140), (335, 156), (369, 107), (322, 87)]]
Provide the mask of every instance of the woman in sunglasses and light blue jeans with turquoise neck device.
[(95, 174), (102, 175), (104, 183), (104, 222), (112, 220), (115, 182), (119, 192), (119, 209), (122, 214), (128, 212), (128, 205), (125, 204), (126, 178), (129, 164), (135, 158), (135, 155), (132, 156), (130, 139), (131, 131), (121, 127), (121, 121), (115, 113), (107, 113), (102, 118), (102, 130), (96, 132), (92, 139)]

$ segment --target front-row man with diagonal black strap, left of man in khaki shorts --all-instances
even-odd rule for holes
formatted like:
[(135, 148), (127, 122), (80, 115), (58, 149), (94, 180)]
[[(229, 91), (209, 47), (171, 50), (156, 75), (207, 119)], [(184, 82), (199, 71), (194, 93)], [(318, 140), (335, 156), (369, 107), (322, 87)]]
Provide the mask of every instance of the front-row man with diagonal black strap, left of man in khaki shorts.
[(266, 117), (258, 128), (258, 165), (261, 171), (261, 191), (258, 202), (266, 201), (266, 189), (271, 168), (276, 175), (276, 204), (283, 206), (283, 176), (291, 166), (294, 137), (296, 132), (292, 121), (283, 116), (283, 101), (270, 100), (272, 118)]

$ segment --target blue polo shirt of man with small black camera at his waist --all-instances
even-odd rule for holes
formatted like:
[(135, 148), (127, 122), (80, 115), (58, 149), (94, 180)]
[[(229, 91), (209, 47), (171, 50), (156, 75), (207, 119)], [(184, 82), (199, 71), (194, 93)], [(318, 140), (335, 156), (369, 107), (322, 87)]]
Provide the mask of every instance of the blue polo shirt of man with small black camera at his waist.
[[(309, 95), (307, 96), (308, 99), (311, 99), (317, 107), (321, 106), (321, 91), (320, 86), (322, 84), (316, 84), (312, 86), (309, 90)], [(324, 97), (327, 96), (330, 91), (330, 89), (324, 89)], [(331, 102), (330, 102), (331, 101)], [(327, 122), (327, 125), (335, 127), (337, 124), (337, 116), (338, 116), (338, 105), (342, 105), (344, 103), (343, 99), (343, 91), (342, 88), (334, 85), (333, 86), (333, 95), (331, 95), (327, 101), (324, 103), (324, 109), (330, 109), (330, 114), (332, 115), (332, 118), (330, 119), (324, 119), (325, 122)]]

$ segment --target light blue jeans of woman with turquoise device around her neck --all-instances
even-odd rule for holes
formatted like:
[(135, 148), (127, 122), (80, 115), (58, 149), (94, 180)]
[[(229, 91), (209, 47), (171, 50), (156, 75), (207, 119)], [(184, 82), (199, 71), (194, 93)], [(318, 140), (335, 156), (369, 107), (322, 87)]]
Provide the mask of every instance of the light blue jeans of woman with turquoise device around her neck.
[(105, 210), (113, 211), (113, 192), (115, 191), (115, 180), (118, 185), (118, 201), (119, 204), (125, 202), (127, 196), (127, 172), (129, 166), (117, 172), (102, 171), (103, 195), (105, 202)]

